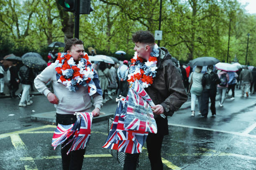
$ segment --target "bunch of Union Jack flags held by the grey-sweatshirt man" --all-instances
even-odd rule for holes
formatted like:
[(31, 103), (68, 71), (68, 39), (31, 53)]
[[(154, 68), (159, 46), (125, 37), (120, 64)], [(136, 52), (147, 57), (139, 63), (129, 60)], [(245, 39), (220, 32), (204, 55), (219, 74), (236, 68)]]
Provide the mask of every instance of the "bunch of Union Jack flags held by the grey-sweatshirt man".
[(92, 112), (78, 112), (77, 121), (74, 124), (58, 124), (51, 142), (54, 150), (58, 145), (64, 142), (67, 142), (67, 144), (72, 142), (72, 146), (67, 152), (67, 155), (70, 151), (84, 149), (90, 140), (92, 118)]

